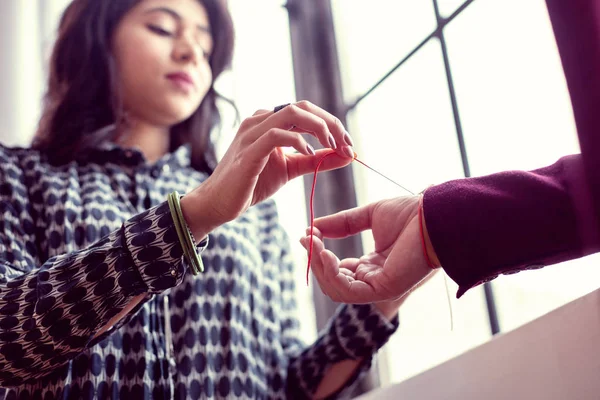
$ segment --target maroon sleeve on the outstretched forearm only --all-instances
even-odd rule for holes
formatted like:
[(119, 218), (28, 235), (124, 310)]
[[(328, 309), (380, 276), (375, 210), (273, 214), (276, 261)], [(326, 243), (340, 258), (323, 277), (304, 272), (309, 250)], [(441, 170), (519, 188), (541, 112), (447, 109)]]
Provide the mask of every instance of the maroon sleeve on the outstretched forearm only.
[(580, 155), (531, 172), (459, 179), (425, 192), (427, 230), (458, 297), (499, 274), (600, 251)]

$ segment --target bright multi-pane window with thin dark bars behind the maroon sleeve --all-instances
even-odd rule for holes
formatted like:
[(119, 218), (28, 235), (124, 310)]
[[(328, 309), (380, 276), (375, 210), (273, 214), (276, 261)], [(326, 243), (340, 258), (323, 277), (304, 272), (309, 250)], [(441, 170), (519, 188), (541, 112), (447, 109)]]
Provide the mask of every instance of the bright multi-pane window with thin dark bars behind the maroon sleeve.
[[(408, 189), (419, 192), (465, 174), (534, 169), (578, 152), (543, 0), (332, 5), (357, 153)], [(405, 194), (371, 171), (354, 171), (360, 204)], [(368, 236), (363, 243), (372, 250)], [(475, 288), (451, 301), (452, 331), (438, 274), (402, 307), (383, 383), (404, 380), (488, 340), (496, 311), (506, 331), (597, 288), (598, 260), (501, 277), (487, 286), (488, 294), (493, 289), (491, 303), (482, 287)], [(577, 279), (569, 279), (574, 268)], [(456, 286), (448, 285), (454, 298)]]

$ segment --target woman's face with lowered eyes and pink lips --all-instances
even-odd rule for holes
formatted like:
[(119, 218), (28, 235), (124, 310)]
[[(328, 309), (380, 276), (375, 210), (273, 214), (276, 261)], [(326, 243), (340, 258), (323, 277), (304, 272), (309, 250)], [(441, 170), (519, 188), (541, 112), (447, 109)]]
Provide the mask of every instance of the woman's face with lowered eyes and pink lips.
[(208, 15), (198, 0), (141, 0), (120, 21), (112, 42), (125, 112), (164, 127), (186, 120), (211, 86), (212, 48)]

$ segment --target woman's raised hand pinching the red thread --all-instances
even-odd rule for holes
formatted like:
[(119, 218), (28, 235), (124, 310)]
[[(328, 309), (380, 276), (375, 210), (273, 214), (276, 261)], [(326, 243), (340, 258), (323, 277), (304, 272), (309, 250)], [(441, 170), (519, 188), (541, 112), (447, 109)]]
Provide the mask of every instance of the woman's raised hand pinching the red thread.
[[(339, 119), (325, 110), (301, 101), (277, 113), (257, 111), (242, 122), (213, 174), (181, 201), (196, 239), (234, 220), (290, 180), (313, 172), (327, 150), (315, 152), (304, 140), (305, 133), (337, 151), (338, 156), (323, 162), (322, 170), (352, 162), (352, 140)], [(298, 153), (285, 154), (282, 147), (293, 147)]]

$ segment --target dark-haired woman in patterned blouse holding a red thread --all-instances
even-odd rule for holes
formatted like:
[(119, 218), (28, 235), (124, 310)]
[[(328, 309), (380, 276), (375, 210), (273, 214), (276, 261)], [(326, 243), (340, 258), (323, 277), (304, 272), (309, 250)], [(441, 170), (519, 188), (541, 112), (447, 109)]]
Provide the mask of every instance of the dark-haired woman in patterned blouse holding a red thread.
[(331, 151), (300, 133), (337, 149), (327, 169), (351, 162), (351, 139), (300, 102), (246, 119), (216, 164), (213, 82), (233, 42), (223, 4), (66, 10), (34, 146), (0, 149), (7, 398), (326, 397), (396, 329), (398, 302), (346, 306), (303, 349), (298, 277), (264, 200)]

